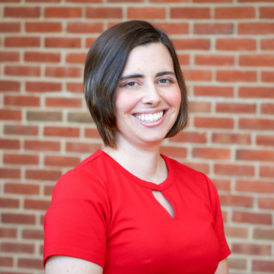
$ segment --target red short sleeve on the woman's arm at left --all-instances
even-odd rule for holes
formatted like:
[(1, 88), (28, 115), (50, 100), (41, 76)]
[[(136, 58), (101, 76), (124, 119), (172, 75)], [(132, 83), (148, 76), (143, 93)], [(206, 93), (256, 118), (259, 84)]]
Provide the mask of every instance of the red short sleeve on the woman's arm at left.
[(109, 222), (108, 195), (98, 179), (82, 169), (63, 175), (45, 215), (44, 266), (49, 256), (62, 255), (104, 267)]

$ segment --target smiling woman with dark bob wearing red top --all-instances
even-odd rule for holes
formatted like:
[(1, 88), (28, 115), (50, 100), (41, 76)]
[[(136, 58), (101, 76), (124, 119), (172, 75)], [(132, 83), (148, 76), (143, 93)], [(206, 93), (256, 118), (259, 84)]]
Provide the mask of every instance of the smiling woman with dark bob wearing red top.
[(46, 273), (227, 274), (216, 188), (159, 152), (188, 110), (166, 34), (145, 21), (108, 29), (88, 52), (84, 90), (105, 149), (54, 188)]

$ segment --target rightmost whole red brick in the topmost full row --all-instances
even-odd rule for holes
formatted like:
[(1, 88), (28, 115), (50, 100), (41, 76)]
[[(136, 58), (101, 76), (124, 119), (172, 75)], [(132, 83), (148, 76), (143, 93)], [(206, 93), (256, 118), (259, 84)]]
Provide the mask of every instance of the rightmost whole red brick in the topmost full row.
[(214, 15), (216, 19), (255, 18), (255, 8), (253, 7), (215, 8)]

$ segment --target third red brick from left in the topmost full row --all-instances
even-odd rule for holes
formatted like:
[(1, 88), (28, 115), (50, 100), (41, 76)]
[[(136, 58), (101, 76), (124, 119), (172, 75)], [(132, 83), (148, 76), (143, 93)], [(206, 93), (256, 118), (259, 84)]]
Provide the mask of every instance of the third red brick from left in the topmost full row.
[[(130, 8), (129, 8), (130, 9)], [(121, 8), (86, 8), (86, 18), (122, 18)]]

